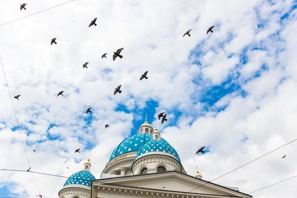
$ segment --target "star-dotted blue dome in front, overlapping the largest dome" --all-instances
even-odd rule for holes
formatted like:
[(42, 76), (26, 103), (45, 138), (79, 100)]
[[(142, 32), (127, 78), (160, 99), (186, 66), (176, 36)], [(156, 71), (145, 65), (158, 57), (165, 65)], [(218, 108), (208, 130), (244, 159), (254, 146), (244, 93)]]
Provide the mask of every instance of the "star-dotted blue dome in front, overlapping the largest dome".
[(163, 138), (160, 137), (160, 140), (151, 140), (148, 143), (144, 144), (141, 149), (137, 152), (136, 158), (147, 152), (167, 152), (173, 155), (181, 163), (181, 160), (176, 152), (176, 150)]

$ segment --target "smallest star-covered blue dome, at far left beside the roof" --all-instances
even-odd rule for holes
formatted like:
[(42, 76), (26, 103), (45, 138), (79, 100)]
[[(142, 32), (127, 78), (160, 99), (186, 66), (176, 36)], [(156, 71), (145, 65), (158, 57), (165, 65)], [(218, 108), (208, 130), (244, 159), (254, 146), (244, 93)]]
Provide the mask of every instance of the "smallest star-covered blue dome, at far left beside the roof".
[(94, 180), (94, 179), (95, 177), (94, 175), (92, 175), (92, 173), (86, 170), (82, 170), (71, 175), (65, 182), (64, 186), (67, 186), (70, 184), (80, 184), (80, 185), (91, 187), (91, 180)]

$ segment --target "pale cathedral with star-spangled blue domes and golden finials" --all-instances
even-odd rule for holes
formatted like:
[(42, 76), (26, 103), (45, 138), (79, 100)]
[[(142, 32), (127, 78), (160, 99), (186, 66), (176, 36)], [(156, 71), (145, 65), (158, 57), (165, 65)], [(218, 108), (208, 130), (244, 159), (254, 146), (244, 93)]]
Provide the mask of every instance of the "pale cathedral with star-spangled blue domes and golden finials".
[(138, 134), (123, 140), (96, 179), (90, 158), (71, 175), (59, 198), (251, 198), (236, 187), (224, 187), (188, 175), (177, 151), (146, 121)]

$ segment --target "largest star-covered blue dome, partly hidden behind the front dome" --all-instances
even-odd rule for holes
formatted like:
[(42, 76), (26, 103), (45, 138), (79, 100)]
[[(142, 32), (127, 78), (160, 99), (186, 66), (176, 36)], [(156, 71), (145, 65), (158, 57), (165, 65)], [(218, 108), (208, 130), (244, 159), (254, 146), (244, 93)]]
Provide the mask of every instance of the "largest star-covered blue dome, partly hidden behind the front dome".
[(138, 151), (145, 143), (152, 139), (150, 134), (136, 134), (130, 138), (125, 139), (121, 144), (114, 148), (110, 155), (109, 161), (120, 154), (127, 152)]

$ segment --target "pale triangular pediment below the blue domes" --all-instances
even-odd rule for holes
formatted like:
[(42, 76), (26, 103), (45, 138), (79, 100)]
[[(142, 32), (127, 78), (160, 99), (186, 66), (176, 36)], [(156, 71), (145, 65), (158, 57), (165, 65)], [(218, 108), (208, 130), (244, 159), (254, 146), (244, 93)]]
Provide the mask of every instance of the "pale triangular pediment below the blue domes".
[[(93, 186), (102, 184), (102, 182), (122, 186), (123, 188), (127, 186), (127, 189), (128, 187), (134, 187), (146, 191), (159, 190), (172, 193), (176, 192), (177, 194), (180, 194), (180, 192), (191, 191), (193, 196), (196, 196), (195, 194), (205, 194), (246, 198), (252, 197), (247, 194), (216, 185), (214, 183), (207, 183), (205, 180), (201, 180), (176, 171), (94, 180)], [(199, 188), (195, 189), (197, 187)]]

